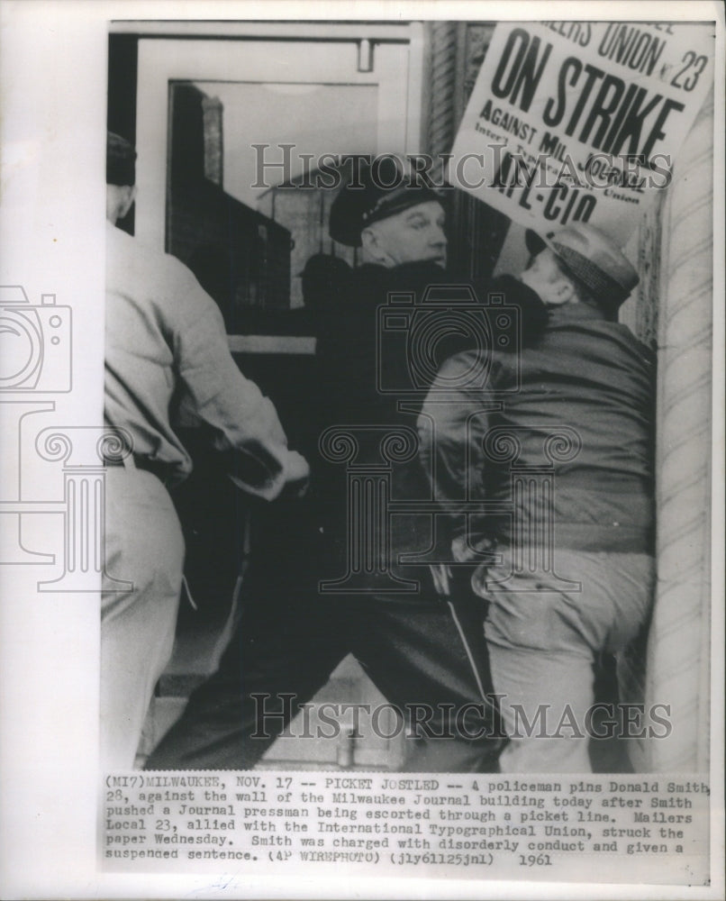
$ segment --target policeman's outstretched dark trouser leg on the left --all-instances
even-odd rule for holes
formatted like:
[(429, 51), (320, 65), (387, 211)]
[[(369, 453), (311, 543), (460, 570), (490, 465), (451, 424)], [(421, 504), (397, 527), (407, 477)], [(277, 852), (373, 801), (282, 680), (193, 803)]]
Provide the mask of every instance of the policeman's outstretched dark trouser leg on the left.
[(348, 652), (310, 580), (258, 562), (219, 669), (189, 698), (146, 769), (250, 769)]

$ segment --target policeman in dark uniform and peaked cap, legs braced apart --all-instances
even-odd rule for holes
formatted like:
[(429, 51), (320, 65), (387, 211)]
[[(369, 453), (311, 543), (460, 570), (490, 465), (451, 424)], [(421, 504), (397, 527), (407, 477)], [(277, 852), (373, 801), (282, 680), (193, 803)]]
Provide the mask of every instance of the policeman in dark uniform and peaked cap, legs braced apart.
[[(430, 547), (430, 515), (388, 515), (386, 499), (361, 511), (336, 453), (355, 447), (357, 471), (388, 467), (382, 490), (393, 501), (430, 498), (416, 458), (416, 414), (428, 384), (425, 375), (412, 381), (405, 341), (384, 341), (379, 353), (378, 311), (391, 293), (417, 305), (427, 288), (450, 283), (445, 213), (429, 187), (407, 179), (386, 187), (394, 181), (390, 172), (369, 170), (362, 187), (344, 187), (331, 206), (331, 237), (359, 248), (363, 263), (347, 276), (347, 302), (331, 310), (319, 341), (322, 452), (313, 463), (313, 493), (322, 547), (306, 548), (292, 565), (277, 555), (272, 580), (253, 560), (239, 633), (148, 769), (252, 766), (350, 652), (389, 702), (420, 712), (410, 724), (417, 737), (406, 742), (405, 769), (496, 767), (502, 740), (487, 693), (481, 602), (454, 611), (427, 565), (402, 560)], [(439, 337), (448, 340), (445, 328)]]

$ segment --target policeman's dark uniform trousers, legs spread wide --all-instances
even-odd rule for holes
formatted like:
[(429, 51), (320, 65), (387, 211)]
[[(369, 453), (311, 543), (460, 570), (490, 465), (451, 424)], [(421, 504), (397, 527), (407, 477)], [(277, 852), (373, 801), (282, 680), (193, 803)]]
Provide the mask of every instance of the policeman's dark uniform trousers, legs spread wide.
[(390, 704), (432, 711), (419, 714), (422, 738), (406, 739), (404, 769), (496, 771), (504, 742), (482, 697), (482, 688), (492, 690), (483, 602), (467, 593), (452, 614), (424, 584), (427, 569), (416, 573), (422, 593), (413, 599), (321, 595), (325, 551), (314, 537), (301, 546), (300, 537), (292, 559), (259, 557), (250, 567), (240, 624), (218, 671), (192, 694), (147, 769), (251, 768), (352, 653)]

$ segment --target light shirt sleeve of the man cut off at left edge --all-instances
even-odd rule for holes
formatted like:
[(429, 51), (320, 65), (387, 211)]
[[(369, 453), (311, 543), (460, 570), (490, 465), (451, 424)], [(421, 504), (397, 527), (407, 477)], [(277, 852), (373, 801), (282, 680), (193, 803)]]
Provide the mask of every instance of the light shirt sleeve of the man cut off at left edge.
[(186, 420), (211, 429), (236, 484), (271, 500), (285, 485), (289, 453), (275, 406), (237, 368), (212, 298), (186, 270), (176, 282), (179, 325), (170, 337)]

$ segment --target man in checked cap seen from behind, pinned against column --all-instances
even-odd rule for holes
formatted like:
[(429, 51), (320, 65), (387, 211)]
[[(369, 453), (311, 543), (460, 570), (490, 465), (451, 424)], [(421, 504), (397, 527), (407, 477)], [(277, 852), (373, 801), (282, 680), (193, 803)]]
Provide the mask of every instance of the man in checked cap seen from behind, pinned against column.
[[(471, 466), (476, 490), (502, 510), (455, 539), (459, 559), (478, 542), (499, 557), (473, 587), (489, 602), (486, 644), (512, 739), (500, 768), (579, 773), (591, 769), (594, 666), (649, 615), (653, 359), (617, 322), (638, 276), (608, 235), (575, 223), (526, 241), (520, 278), (549, 322), (518, 357), (495, 353), (484, 389), (464, 387), (449, 405), (432, 392), (423, 412), (437, 441), (424, 456), (437, 458), (437, 496), (467, 484)], [(449, 359), (438, 387), (470, 366), (470, 354)]]

